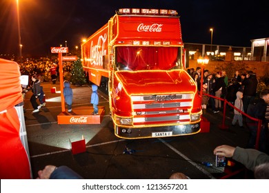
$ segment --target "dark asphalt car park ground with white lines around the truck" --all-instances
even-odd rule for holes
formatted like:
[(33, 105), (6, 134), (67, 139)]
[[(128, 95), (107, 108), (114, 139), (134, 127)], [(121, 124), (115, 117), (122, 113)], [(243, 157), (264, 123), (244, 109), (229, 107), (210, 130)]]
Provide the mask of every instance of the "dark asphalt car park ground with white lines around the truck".
[[(203, 111), (210, 121), (210, 131), (190, 136), (126, 140), (114, 136), (109, 114), (108, 95), (98, 90), (99, 105), (106, 114), (101, 124), (59, 125), (57, 115), (61, 112), (60, 93), (51, 93), (52, 87), (59, 90), (59, 82), (41, 83), (46, 94), (46, 106), (32, 113), (30, 96), (26, 94), (23, 108), (28, 136), (30, 163), (33, 178), (46, 165), (67, 165), (84, 179), (168, 179), (174, 172), (183, 172), (190, 179), (219, 179), (226, 176), (224, 167), (215, 167), (213, 150), (217, 145), (245, 147), (248, 129), (233, 127), (232, 111), (225, 119), (226, 129), (221, 129), (223, 113)], [(73, 107), (89, 106), (92, 93), (90, 85), (72, 86)], [(72, 154), (70, 141), (86, 139), (86, 152)], [(132, 154), (124, 153), (128, 148)], [(212, 163), (211, 167), (202, 162)], [(232, 179), (243, 179), (243, 175)]]

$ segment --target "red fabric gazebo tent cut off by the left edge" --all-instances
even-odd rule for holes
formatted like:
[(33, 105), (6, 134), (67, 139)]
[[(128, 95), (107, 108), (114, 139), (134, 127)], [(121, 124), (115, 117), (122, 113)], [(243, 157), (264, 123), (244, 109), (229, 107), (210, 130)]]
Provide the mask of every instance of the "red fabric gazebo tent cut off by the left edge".
[[(0, 179), (30, 179), (30, 161), (20, 138), (19, 115), (14, 108), (23, 102), (19, 65), (0, 59)], [(22, 116), (20, 119), (24, 119)]]

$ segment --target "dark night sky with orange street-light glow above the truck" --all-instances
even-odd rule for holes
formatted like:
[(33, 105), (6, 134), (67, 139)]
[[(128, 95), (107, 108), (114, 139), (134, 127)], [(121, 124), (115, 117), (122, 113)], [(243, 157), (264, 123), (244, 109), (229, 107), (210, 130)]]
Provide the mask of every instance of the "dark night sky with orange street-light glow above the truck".
[[(74, 49), (101, 28), (118, 8), (174, 9), (183, 42), (251, 46), (269, 37), (268, 0), (19, 0), (23, 55), (50, 53), (51, 46)], [(16, 0), (0, 0), (0, 54), (18, 54)]]

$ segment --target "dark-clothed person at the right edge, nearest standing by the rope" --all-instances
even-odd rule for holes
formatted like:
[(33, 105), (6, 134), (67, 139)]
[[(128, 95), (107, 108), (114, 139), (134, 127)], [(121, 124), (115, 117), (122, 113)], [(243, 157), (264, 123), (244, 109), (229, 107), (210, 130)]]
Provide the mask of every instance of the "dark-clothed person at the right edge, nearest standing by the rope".
[[(259, 150), (261, 152), (269, 153), (268, 151), (268, 130), (266, 127), (266, 110), (267, 105), (269, 103), (269, 90), (265, 89), (261, 92), (260, 98), (258, 99), (256, 104), (248, 105), (247, 114), (256, 118), (261, 119), (261, 134), (259, 139)], [(250, 138), (248, 140), (248, 148), (255, 148), (256, 136), (257, 136), (257, 121), (253, 121), (252, 119), (246, 118), (246, 123), (248, 128), (250, 129)]]

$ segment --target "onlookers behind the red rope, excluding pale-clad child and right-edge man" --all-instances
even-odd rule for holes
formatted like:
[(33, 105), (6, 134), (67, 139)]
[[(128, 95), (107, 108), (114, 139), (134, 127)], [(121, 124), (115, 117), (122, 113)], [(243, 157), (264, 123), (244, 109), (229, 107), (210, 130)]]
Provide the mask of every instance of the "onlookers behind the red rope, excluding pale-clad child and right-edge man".
[[(188, 73), (197, 83), (197, 90), (199, 92), (205, 92), (212, 96), (217, 96), (222, 99), (226, 99), (228, 102), (235, 104), (237, 99), (237, 92), (243, 93), (243, 110), (247, 112), (248, 105), (252, 103), (257, 94), (258, 80), (255, 72), (248, 71), (246, 74), (239, 74), (239, 71), (235, 71), (233, 77), (228, 79), (228, 75), (225, 70), (221, 70), (215, 74), (212, 74), (208, 70), (203, 71), (203, 87), (201, 88), (201, 68), (197, 67), (188, 69)], [(201, 90), (202, 89), (202, 90)], [(202, 100), (202, 108), (210, 107), (217, 113), (221, 110), (222, 103), (218, 99), (208, 99), (207, 96)]]

